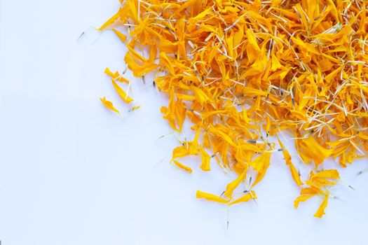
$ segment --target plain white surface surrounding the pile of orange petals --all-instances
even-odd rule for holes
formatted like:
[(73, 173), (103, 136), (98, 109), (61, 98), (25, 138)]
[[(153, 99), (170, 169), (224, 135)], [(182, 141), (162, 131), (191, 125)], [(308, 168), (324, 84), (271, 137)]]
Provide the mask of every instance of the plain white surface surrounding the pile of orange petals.
[[(318, 200), (293, 207), (299, 190), (280, 154), (253, 202), (226, 207), (195, 199), (221, 193), (232, 179), (218, 168), (189, 175), (168, 161), (175, 138), (159, 108), (165, 97), (134, 84), (142, 109), (124, 111), (103, 70), (123, 69), (125, 48), (105, 32), (82, 31), (116, 12), (116, 0), (0, 0), (0, 240), (57, 244), (367, 244), (367, 160), (341, 172), (327, 215)], [(91, 34), (92, 33), (92, 34)], [(214, 166), (214, 165), (213, 165)], [(217, 171), (218, 170), (218, 171)]]

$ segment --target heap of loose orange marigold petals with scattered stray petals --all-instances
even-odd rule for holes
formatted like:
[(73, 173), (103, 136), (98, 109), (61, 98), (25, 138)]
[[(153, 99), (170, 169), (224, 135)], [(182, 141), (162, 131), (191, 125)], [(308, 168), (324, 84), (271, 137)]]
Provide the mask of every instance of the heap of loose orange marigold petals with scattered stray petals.
[[(161, 113), (172, 129), (191, 123), (193, 139), (180, 142), (172, 163), (191, 173), (180, 158), (198, 155), (203, 171), (217, 162), (237, 174), (222, 195), (198, 190), (198, 198), (226, 205), (256, 199), (254, 186), (280, 152), (301, 188), (294, 206), (319, 197), (320, 218), (340, 181), (322, 163), (333, 158), (346, 167), (367, 157), (367, 15), (367, 0), (124, 0), (100, 30), (125, 43), (134, 76), (154, 74), (168, 95)], [(121, 87), (130, 81), (106, 73), (130, 104)], [(310, 167), (307, 178), (286, 138)], [(241, 183), (247, 188), (239, 195)]]

